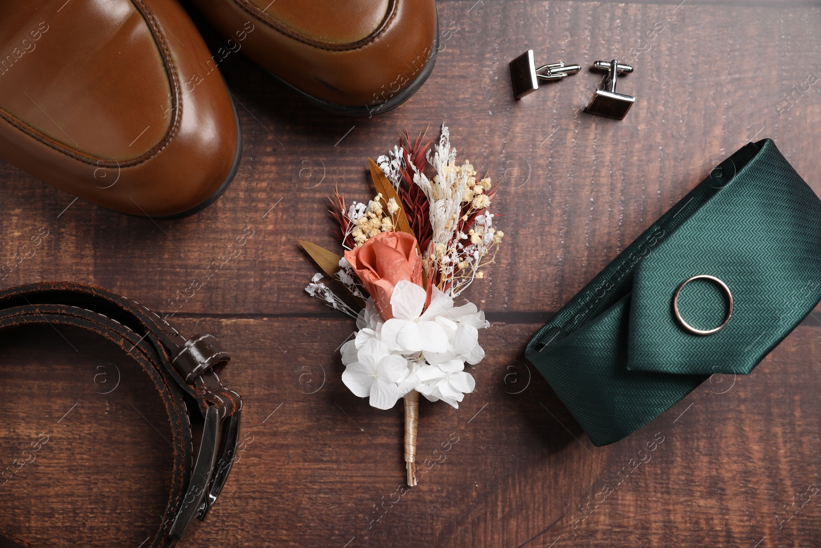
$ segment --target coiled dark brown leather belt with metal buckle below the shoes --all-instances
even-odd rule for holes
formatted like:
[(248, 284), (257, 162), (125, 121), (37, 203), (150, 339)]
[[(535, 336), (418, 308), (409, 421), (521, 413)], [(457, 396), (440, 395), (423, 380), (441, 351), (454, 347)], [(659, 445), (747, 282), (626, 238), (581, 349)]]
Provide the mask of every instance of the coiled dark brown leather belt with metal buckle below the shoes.
[[(174, 470), (163, 523), (145, 547), (175, 546), (192, 518), (202, 521), (231, 471), (242, 399), (217, 373), (231, 359), (209, 334), (186, 340), (137, 302), (103, 288), (68, 282), (32, 283), (0, 292), (0, 329), (72, 325), (116, 343), (149, 375), (171, 424)], [(186, 402), (204, 417), (194, 454)], [(0, 529), (0, 548), (32, 546)]]

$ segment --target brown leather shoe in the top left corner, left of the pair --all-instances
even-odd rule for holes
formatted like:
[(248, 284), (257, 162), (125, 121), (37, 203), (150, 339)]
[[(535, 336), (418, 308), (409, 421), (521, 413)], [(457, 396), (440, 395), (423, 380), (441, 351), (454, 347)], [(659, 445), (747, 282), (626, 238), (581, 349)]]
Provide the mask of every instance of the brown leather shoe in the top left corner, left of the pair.
[(3, 159), (126, 214), (193, 214), (226, 189), (239, 119), (176, 0), (0, 2), (0, 21)]

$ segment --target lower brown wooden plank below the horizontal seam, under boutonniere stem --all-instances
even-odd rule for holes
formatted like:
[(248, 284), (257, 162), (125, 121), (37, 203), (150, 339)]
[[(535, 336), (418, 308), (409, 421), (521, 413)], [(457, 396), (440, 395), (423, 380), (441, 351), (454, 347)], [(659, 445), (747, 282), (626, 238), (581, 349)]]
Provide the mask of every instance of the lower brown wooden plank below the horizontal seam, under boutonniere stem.
[[(672, 536), (684, 546), (753, 546), (763, 536), (767, 546), (805, 546), (821, 528), (816, 497), (783, 527), (776, 518), (819, 482), (818, 328), (796, 329), (749, 377), (705, 382), (635, 435), (595, 448), (521, 362), (538, 326), (494, 325), (482, 334), (493, 351), (471, 370), (477, 389), (461, 409), (423, 402), (420, 459), (439, 462), (404, 493), (401, 408), (369, 408), (340, 379), (335, 348), (350, 321), (177, 325), (226, 341), (233, 361), (223, 379), (245, 400), (231, 481), (186, 546), (344, 546), (352, 537), (351, 546), (549, 546), (559, 536), (556, 546), (672, 546)], [(53, 440), (2, 487), (0, 515), (40, 546), (60, 546), (55, 535), (69, 546), (97, 546), (101, 535), (136, 546), (163, 509), (167, 426), (142, 374), (116, 352), (97, 355), (89, 337), (66, 335), (83, 352), (67, 352), (48, 329), (2, 335), (2, 463), (40, 428), (51, 425)], [(111, 394), (96, 394), (99, 362), (122, 371)], [(632, 470), (640, 449), (649, 461)]]

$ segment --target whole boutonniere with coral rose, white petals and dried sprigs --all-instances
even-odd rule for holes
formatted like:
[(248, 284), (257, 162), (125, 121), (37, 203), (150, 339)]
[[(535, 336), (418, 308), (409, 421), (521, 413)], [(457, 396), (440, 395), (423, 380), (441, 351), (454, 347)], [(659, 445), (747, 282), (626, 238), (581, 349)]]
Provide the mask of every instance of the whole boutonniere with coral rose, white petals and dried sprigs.
[(338, 191), (331, 200), (342, 256), (300, 241), (349, 295), (337, 296), (321, 273), (305, 291), (356, 320), (355, 338), (342, 345), (351, 392), (379, 409), (404, 399), (406, 477), (415, 486), (419, 395), (459, 408), (473, 392), (465, 367), (484, 358), (479, 329), (489, 323), (456, 297), (484, 278), (504, 233), (490, 210), (496, 189), (469, 161), (456, 163), (446, 126), (435, 145), (404, 132), (369, 164), (373, 200), (347, 205)]

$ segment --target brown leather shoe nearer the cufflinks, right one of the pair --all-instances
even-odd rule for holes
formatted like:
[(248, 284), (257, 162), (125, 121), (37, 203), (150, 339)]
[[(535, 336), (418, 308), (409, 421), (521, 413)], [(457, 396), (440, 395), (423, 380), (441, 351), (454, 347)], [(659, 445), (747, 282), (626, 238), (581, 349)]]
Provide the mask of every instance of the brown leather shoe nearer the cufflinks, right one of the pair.
[(370, 115), (402, 104), (438, 49), (434, 0), (193, 0), (228, 40), (306, 99)]

